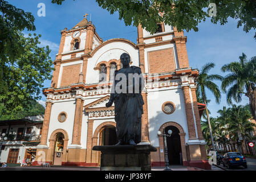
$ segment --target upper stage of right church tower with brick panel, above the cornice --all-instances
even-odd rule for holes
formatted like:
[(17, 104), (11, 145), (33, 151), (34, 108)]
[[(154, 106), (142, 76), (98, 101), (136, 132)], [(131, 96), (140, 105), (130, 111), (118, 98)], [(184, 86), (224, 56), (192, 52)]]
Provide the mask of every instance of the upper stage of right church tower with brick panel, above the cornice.
[(141, 70), (144, 73), (162, 73), (188, 68), (184, 32), (164, 23), (157, 26), (154, 34), (143, 29), (141, 24), (137, 27)]

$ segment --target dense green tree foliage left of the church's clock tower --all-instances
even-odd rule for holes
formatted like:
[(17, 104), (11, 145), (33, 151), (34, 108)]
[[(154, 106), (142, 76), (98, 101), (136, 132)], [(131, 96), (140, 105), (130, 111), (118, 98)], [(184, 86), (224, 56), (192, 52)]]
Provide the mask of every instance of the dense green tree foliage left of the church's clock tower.
[(22, 110), (40, 99), (44, 80), (51, 79), (52, 61), (48, 46), (40, 47), (34, 16), (0, 0), (0, 104), (2, 114)]

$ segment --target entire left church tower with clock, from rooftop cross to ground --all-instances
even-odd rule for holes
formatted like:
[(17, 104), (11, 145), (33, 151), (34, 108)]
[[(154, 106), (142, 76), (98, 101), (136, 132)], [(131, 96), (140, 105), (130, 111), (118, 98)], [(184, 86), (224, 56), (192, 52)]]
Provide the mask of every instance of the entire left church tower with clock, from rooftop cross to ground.
[[(90, 52), (93, 48), (103, 42), (95, 31), (95, 26), (92, 22), (88, 22), (86, 16), (78, 24), (70, 30), (64, 28), (60, 32), (60, 47), (54, 61), (55, 71), (53, 72), (51, 87), (43, 90), (44, 95), (47, 97), (46, 110), (44, 114), (42, 135), (40, 144), (37, 147), (36, 159), (33, 165), (40, 165), (44, 162), (51, 165), (63, 165), (67, 162), (81, 162), (86, 159), (86, 149), (80, 147), (81, 145), (81, 132), (82, 132), (82, 116), (84, 98), (76, 96), (74, 89), (76, 86), (86, 83), (86, 72), (88, 59), (91, 57)], [(80, 88), (80, 87), (78, 87)], [(66, 97), (61, 94), (67, 94)], [(67, 108), (68, 111), (74, 110), (74, 116), (62, 112), (58, 115), (58, 108), (65, 107), (65, 104), (58, 106), (54, 100), (72, 99), (75, 100), (74, 108)], [(56, 115), (58, 116), (57, 118)], [(63, 123), (68, 117), (74, 117), (70, 122), (69, 128), (72, 132), (67, 133), (68, 127), (61, 128)], [(62, 121), (62, 117), (65, 118)], [(51, 122), (50, 122), (51, 120)], [(60, 162), (55, 159), (56, 136), (59, 133), (63, 134), (63, 150)], [(70, 141), (70, 144), (68, 143)]]

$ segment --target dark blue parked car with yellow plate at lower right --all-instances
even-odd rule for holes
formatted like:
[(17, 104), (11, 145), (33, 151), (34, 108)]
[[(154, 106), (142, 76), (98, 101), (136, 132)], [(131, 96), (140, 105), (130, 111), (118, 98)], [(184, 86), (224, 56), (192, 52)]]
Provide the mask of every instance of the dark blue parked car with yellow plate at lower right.
[(246, 159), (239, 152), (227, 152), (222, 159), (223, 166), (227, 166), (229, 169), (233, 166), (243, 166), (247, 168)]

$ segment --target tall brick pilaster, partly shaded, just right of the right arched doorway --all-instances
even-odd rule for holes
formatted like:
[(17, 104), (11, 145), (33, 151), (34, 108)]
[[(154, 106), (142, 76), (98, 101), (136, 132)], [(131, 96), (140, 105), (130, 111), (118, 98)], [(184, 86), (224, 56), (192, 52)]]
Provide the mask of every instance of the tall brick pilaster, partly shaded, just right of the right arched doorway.
[(189, 139), (196, 139), (196, 129), (194, 128), (194, 117), (193, 117), (192, 103), (191, 103), (190, 94), (189, 94), (189, 86), (188, 85), (182, 86), (182, 90), (184, 94), (186, 122), (188, 124)]

